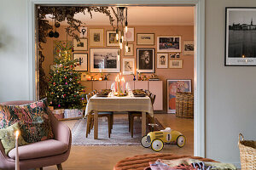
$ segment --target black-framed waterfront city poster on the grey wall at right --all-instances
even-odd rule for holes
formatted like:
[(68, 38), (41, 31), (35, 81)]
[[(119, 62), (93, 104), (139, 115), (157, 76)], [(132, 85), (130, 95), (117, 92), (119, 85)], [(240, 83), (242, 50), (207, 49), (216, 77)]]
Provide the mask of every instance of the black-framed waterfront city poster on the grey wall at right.
[(256, 8), (226, 8), (226, 66), (256, 65), (255, 17)]

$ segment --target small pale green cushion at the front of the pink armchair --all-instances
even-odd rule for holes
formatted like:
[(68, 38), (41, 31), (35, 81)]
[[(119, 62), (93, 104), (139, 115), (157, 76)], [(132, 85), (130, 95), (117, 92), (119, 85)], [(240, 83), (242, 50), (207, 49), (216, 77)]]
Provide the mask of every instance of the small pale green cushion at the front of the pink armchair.
[[(0, 140), (3, 144), (3, 148), (5, 150), (5, 154), (8, 155), (9, 150), (12, 150), (15, 148), (15, 132), (20, 131), (19, 123), (16, 122), (10, 127), (0, 129)], [(18, 144), (19, 146), (28, 144), (25, 142), (25, 140), (22, 138), (22, 136), (19, 136), (18, 138)]]

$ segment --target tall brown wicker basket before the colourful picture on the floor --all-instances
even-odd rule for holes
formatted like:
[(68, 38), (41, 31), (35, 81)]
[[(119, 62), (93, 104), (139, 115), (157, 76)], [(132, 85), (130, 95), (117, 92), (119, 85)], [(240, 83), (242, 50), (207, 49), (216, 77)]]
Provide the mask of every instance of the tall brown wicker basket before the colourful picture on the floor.
[(176, 93), (176, 116), (184, 118), (194, 117), (194, 94), (188, 92)]

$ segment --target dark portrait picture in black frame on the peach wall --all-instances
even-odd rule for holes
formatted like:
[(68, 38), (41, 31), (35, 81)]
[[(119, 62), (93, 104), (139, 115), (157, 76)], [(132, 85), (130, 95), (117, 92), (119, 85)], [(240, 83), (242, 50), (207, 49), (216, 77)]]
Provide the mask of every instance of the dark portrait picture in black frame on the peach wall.
[(137, 48), (137, 71), (154, 72), (154, 48)]

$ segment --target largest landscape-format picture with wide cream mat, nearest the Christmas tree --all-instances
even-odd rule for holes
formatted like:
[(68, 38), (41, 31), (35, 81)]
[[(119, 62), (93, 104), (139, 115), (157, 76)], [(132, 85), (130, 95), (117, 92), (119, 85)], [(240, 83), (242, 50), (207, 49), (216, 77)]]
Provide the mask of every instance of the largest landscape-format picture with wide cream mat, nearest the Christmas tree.
[(119, 72), (119, 48), (90, 48), (90, 72)]

